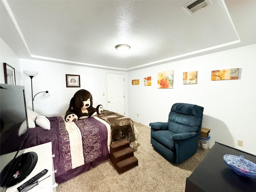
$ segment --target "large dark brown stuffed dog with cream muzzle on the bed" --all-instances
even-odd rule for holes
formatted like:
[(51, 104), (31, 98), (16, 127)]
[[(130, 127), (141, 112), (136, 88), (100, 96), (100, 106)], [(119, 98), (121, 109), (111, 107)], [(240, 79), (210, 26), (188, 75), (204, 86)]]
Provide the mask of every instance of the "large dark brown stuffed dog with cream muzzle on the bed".
[(92, 94), (87, 90), (81, 89), (71, 98), (65, 120), (66, 122), (72, 122), (78, 119), (92, 117), (96, 114), (97, 111), (92, 106)]

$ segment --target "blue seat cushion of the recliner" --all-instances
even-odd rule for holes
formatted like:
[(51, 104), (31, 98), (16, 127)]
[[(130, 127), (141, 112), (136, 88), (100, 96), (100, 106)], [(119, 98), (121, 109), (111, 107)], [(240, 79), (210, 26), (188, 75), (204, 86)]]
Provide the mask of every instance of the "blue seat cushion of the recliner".
[(152, 132), (152, 138), (165, 146), (166, 148), (175, 151), (175, 143), (172, 140), (172, 136), (175, 133), (169, 131), (169, 130), (162, 130), (162, 131), (154, 131)]

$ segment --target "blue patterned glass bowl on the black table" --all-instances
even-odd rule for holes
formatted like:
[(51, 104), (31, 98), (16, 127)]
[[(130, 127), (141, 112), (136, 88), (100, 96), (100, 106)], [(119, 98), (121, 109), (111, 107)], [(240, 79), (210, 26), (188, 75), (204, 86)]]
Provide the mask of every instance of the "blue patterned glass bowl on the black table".
[(256, 164), (245, 159), (244, 156), (224, 155), (223, 160), (236, 174), (243, 177), (256, 177)]

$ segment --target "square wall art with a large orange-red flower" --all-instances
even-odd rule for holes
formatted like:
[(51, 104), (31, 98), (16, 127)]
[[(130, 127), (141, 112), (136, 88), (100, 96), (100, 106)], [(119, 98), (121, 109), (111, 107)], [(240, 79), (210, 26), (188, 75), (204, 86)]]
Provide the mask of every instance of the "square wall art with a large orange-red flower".
[(173, 70), (158, 72), (157, 88), (173, 88)]

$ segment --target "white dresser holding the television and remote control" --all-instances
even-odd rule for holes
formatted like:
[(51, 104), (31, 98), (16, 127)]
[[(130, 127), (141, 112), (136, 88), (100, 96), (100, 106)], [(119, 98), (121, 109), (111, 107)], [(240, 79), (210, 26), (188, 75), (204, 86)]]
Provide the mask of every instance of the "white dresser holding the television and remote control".
[(8, 188), (6, 192), (18, 192), (17, 190), (18, 186), (30, 180), (30, 178), (32, 178), (33, 176), (35, 176), (36, 174), (38, 174), (44, 169), (47, 169), (48, 172), (44, 176), (42, 176), (39, 179), (39, 181), (48, 177), (49, 175), (50, 177), (40, 182), (34, 188), (28, 190), (28, 192), (56, 192), (56, 187), (58, 186), (58, 184), (55, 182), (55, 176), (54, 176), (56, 171), (54, 171), (54, 166), (53, 166), (54, 155), (52, 155), (52, 142), (27, 148), (24, 150), (24, 153), (26, 152), (36, 152), (36, 154), (38, 155), (38, 161), (36, 163), (36, 166), (26, 179), (24, 179), (19, 184)]

